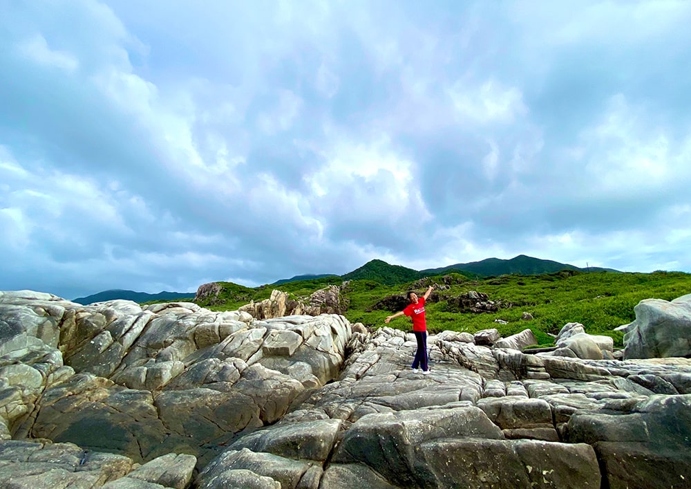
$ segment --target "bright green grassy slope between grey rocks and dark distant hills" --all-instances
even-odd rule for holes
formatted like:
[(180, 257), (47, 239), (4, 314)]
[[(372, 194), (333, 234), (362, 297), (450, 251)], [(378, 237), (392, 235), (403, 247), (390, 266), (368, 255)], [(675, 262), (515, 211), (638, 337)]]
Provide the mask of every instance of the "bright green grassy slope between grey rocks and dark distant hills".
[[(654, 273), (585, 273), (577, 270), (544, 275), (502, 275), (487, 279), (471, 280), (463, 275), (451, 274), (432, 277), (402, 285), (384, 285), (374, 280), (352, 280), (341, 295), (348, 300), (345, 317), (350, 322), (362, 322), (366, 326), (384, 326), (386, 316), (397, 311), (383, 311), (373, 306), (389, 295), (404, 295), (407, 290), (423, 293), (426, 284), (446, 284), (448, 289), (436, 292), (449, 297), (475, 290), (489, 295), (489, 300), (511, 307), (496, 313), (453, 313), (446, 311), (446, 301), (426, 305), (427, 326), (430, 332), (468, 331), (496, 328), (503, 336), (530, 328), (540, 345), (551, 344), (553, 338), (567, 322), (580, 322), (591, 334), (609, 335), (621, 347), (622, 333), (614, 331), (616, 326), (635, 319), (634, 306), (642, 299), (657, 298), (671, 300), (691, 293), (691, 274), (681, 272)], [(203, 304), (216, 311), (236, 309), (250, 300), (267, 299), (276, 288), (294, 299), (305, 299), (315, 290), (328, 285), (341, 286), (339, 277), (289, 282), (278, 286), (248, 288), (231, 283), (220, 283), (224, 290), (220, 301)], [(521, 320), (523, 312), (533, 315), (532, 320)], [(508, 324), (494, 322), (495, 319)], [(401, 330), (410, 329), (410, 320), (399, 317), (389, 326)]]

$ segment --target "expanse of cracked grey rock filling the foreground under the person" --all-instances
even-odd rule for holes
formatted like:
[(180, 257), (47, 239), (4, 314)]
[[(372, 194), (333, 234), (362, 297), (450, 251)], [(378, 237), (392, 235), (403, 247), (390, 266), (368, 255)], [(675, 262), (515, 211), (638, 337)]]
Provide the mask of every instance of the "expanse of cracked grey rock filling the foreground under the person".
[(0, 292), (0, 487), (689, 487), (691, 360), (580, 326), (430, 335), (423, 376), (413, 335), (337, 314)]

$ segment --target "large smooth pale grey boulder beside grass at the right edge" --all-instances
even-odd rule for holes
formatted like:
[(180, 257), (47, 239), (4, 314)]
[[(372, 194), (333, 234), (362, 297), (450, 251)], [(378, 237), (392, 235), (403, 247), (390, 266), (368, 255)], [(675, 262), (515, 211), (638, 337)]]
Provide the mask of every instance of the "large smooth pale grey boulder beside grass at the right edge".
[(672, 300), (643, 299), (625, 331), (624, 358), (691, 356), (691, 294)]

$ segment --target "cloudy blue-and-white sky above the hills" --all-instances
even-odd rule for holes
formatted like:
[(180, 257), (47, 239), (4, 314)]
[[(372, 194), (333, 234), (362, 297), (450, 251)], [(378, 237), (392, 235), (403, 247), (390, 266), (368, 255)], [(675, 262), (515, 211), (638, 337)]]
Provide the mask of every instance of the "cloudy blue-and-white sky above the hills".
[(0, 290), (691, 272), (689, 1), (0, 11)]

